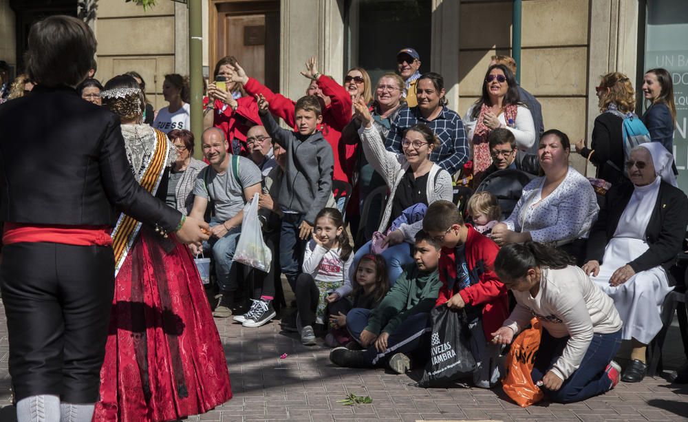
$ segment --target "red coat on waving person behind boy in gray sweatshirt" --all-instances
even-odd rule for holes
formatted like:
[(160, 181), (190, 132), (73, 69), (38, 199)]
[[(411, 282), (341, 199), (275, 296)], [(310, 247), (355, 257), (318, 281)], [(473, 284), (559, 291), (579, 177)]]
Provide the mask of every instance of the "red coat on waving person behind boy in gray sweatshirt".
[[(343, 142), (340, 143), (339, 140), (341, 139), (341, 131), (352, 118), (351, 97), (344, 87), (327, 76), (320, 76), (318, 86), (323, 90), (323, 94), (329, 96), (332, 100), (332, 103), (323, 110), (323, 123), (318, 127), (318, 130), (323, 133), (325, 140), (332, 146), (334, 153), (334, 174), (332, 178), (350, 183), (356, 167), (356, 149), (358, 149), (358, 145), (345, 145)], [(280, 94), (275, 94), (254, 78), (248, 78), (244, 89), (246, 89), (250, 96), (262, 94), (270, 103), (270, 112), (282, 118), (290, 127), (294, 127), (294, 106), (296, 105), (294, 101)]]

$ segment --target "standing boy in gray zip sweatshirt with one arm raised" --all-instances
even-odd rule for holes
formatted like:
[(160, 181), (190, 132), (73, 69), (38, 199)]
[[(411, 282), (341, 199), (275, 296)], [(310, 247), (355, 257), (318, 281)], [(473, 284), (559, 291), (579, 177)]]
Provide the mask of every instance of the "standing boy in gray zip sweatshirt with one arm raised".
[(279, 193), (279, 206), (283, 212), (279, 261), (282, 273), (294, 290), (315, 216), (325, 208), (332, 195), (334, 156), (330, 143), (316, 129), (323, 120), (316, 98), (304, 96), (297, 101), (294, 107), (297, 131), (277, 125), (264, 96), (257, 95), (256, 101), (266, 131), (286, 149), (286, 166)]

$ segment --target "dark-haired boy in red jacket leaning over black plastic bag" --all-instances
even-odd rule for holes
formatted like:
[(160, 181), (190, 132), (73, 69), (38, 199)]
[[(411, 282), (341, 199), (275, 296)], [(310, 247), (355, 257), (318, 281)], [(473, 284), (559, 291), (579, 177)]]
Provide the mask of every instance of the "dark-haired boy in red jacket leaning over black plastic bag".
[[(423, 230), (442, 244), (440, 295), (436, 306), (465, 309), (471, 329), (471, 352), (478, 366), (473, 372), (476, 387), (491, 388), (499, 379), (499, 346), (491, 342), (508, 317), (507, 288), (493, 271), (499, 246), (465, 224), (456, 205), (438, 200), (423, 218)], [(488, 343), (489, 341), (489, 343)]]

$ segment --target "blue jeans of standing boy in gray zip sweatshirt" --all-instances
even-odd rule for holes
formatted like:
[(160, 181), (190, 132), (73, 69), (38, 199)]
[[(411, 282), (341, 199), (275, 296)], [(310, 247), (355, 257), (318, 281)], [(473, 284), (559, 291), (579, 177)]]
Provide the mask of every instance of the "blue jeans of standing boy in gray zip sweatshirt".
[(279, 233), (279, 265), (282, 274), (296, 292), (297, 277), (301, 274), (303, 252), (306, 241), (299, 238), (299, 225), (303, 222), (303, 214), (284, 213)]

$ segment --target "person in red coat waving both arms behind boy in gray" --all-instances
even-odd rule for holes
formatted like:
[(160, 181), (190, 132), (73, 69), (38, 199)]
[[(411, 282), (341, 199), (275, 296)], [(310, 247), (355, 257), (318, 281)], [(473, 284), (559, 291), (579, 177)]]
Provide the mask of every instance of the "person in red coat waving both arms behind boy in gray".
[[(294, 121), (294, 104), (296, 103), (294, 101), (280, 94), (275, 94), (254, 78), (246, 76), (246, 72), (239, 63), (235, 63), (234, 68), (233, 82), (243, 84), (246, 93), (250, 96), (255, 96), (256, 94), (264, 96), (266, 101), (270, 103), (270, 113), (284, 120), (290, 127), (296, 128)], [(306, 95), (318, 98), (318, 101), (321, 103), (323, 122), (318, 125), (317, 129), (322, 132), (325, 140), (332, 147), (334, 154), (334, 174), (332, 179), (351, 183), (354, 169), (356, 169), (356, 149), (358, 145), (346, 145), (343, 142), (339, 142), (341, 131), (352, 118), (351, 96), (343, 86), (333, 81), (332, 78), (318, 72), (314, 57), (311, 57), (306, 63), (306, 70), (301, 72), (301, 74), (311, 80), (306, 90)]]

